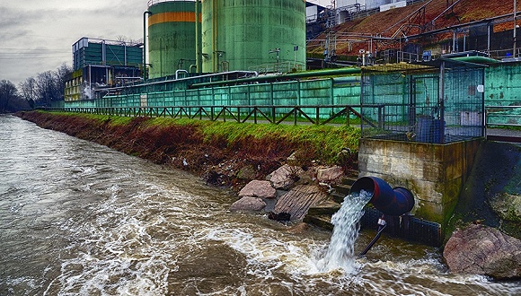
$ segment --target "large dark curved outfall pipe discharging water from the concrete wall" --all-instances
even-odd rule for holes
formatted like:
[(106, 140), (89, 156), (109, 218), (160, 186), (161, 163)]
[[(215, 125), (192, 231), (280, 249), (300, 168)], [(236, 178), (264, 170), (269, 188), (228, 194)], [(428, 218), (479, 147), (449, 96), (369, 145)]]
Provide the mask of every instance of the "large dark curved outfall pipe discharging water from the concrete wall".
[(371, 193), (369, 203), (385, 215), (401, 216), (411, 212), (414, 207), (414, 196), (411, 191), (404, 187), (392, 188), (381, 178), (358, 178), (351, 186), (349, 194), (359, 194), (362, 190)]

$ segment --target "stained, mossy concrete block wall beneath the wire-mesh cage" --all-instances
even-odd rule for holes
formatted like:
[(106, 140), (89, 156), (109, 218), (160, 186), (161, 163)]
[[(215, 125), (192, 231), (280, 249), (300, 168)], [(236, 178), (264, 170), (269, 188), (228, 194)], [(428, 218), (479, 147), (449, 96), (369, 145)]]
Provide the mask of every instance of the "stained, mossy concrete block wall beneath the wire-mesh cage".
[(416, 199), (411, 213), (445, 227), (481, 141), (423, 144), (363, 138), (358, 151), (359, 177), (378, 177), (392, 187), (410, 189)]

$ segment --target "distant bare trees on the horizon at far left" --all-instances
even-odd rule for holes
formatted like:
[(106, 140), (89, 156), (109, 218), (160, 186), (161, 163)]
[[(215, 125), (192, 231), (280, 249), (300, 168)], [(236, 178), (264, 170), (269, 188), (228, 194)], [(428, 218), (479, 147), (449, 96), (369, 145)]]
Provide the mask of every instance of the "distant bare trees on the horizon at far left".
[(66, 74), (71, 72), (64, 63), (55, 71), (27, 78), (18, 87), (8, 80), (0, 81), (0, 113), (51, 107), (54, 101), (64, 100)]

